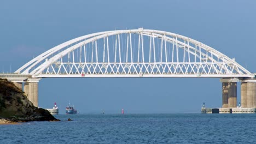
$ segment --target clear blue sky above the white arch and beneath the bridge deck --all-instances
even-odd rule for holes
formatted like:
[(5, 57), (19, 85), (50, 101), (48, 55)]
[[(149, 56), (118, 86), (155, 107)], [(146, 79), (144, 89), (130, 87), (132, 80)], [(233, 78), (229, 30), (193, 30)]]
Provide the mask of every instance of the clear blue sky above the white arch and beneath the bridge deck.
[[(95, 32), (144, 27), (213, 47), (256, 73), (256, 1), (1, 1), (0, 71)], [(240, 97), (240, 85), (238, 85)], [(219, 79), (42, 79), (39, 106), (71, 101), (81, 113), (199, 113), (222, 105)], [(238, 98), (240, 101), (240, 98)]]

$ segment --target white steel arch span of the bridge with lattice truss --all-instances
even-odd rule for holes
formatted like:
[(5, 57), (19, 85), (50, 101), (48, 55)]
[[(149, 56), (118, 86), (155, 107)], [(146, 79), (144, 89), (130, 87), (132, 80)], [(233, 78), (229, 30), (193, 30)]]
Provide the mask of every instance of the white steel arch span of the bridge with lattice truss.
[(15, 73), (32, 77), (254, 77), (234, 59), (199, 41), (143, 28), (66, 41)]

